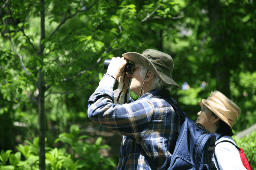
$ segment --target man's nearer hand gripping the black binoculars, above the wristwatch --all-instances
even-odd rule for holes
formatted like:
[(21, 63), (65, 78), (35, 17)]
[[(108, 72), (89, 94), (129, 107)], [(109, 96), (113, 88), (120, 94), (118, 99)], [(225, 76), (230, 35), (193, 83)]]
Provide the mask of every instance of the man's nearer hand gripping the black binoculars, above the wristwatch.
[(128, 63), (128, 60), (125, 59), (124, 57), (120, 58), (120, 57), (113, 57), (111, 59), (111, 62), (108, 66), (108, 70), (107, 73), (111, 74), (112, 76), (114, 76), (115, 80), (120, 77), (121, 75), (123, 75), (123, 71), (124, 71), (124, 67), (125, 65)]

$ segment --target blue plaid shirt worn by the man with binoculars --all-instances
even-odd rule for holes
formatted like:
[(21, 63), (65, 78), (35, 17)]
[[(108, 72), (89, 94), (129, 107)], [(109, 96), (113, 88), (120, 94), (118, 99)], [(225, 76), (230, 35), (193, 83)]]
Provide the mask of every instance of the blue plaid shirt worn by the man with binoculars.
[[(160, 92), (154, 89), (136, 101), (130, 98), (127, 104), (116, 105), (113, 88), (102, 87), (89, 98), (89, 119), (123, 135), (118, 170), (151, 170), (148, 161), (164, 170), (170, 162), (169, 150), (178, 137), (180, 116), (165, 100), (150, 98)], [(151, 160), (145, 159), (145, 153)]]

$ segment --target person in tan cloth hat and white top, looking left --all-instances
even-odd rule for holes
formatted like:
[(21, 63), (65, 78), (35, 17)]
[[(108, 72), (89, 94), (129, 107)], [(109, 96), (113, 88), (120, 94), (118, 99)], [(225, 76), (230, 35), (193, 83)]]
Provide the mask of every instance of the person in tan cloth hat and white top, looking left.
[(218, 144), (213, 156), (216, 168), (218, 170), (246, 170), (236, 143), (231, 137), (235, 120), (241, 113), (240, 108), (217, 90), (211, 92), (207, 100), (199, 101), (199, 104), (201, 111), (197, 113), (196, 122), (216, 135), (215, 143)]

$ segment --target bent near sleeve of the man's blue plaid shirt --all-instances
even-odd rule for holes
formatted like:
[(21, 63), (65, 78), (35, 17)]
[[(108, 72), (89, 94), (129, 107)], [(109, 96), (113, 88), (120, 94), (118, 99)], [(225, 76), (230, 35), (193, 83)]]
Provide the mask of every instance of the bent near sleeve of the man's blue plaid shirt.
[(88, 117), (119, 134), (133, 138), (140, 143), (146, 132), (154, 110), (148, 99), (116, 105), (111, 87), (97, 89), (88, 101)]

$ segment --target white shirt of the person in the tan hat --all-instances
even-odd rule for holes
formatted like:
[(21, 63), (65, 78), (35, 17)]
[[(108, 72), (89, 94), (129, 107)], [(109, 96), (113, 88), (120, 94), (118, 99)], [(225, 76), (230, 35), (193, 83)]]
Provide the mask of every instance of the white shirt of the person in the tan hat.
[[(236, 145), (235, 141), (230, 136), (222, 136), (219, 138), (221, 136), (220, 134), (215, 133), (215, 135), (216, 144), (222, 140), (229, 140)], [(241, 161), (238, 149), (229, 142), (221, 142), (217, 144), (215, 147), (215, 156), (218, 163), (216, 162), (214, 155), (212, 160), (218, 170), (246, 170)]]

